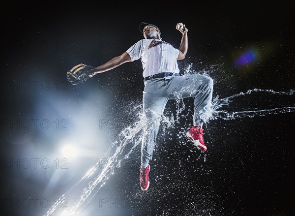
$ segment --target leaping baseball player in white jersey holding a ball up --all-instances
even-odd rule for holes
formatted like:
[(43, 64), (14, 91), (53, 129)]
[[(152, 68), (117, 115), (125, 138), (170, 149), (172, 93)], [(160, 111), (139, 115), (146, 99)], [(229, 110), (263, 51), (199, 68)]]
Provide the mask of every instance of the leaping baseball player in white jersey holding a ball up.
[(198, 149), (202, 152), (207, 151), (202, 127), (208, 120), (213, 80), (201, 74), (179, 75), (177, 60), (183, 60), (188, 49), (188, 29), (185, 25), (182, 23), (176, 25), (176, 29), (182, 33), (178, 49), (161, 39), (161, 31), (156, 25), (141, 23), (139, 28), (145, 39), (138, 41), (120, 56), (100, 66), (76, 65), (67, 72), (67, 78), (69, 82), (76, 85), (97, 73), (141, 59), (145, 83), (143, 110), (147, 124), (142, 138), (140, 186), (143, 191), (146, 191), (149, 187), (149, 160), (152, 158), (161, 115), (169, 99), (176, 99), (179, 96), (194, 98), (193, 126), (186, 135)]

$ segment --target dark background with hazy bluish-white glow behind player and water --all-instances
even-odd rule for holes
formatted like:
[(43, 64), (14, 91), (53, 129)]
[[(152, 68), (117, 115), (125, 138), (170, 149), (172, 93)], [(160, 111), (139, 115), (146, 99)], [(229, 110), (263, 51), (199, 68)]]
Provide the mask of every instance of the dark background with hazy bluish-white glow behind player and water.
[[(191, 66), (212, 77), (213, 98), (255, 88), (288, 92), (295, 88), (293, 12), (294, 5), (283, 1), (13, 1), (2, 7), (1, 212), (46, 214), (49, 207), (40, 200), (54, 203), (137, 118), (130, 110), (142, 100), (140, 61), (78, 86), (65, 79), (72, 66), (97, 66), (122, 54), (143, 38), (141, 22), (157, 25), (162, 39), (177, 48), (181, 34), (175, 26), (182, 22), (189, 49), (179, 68)], [(249, 51), (254, 60), (236, 63)], [(129, 165), (116, 170), (81, 215), (294, 216), (294, 112), (212, 120), (205, 127), (203, 154), (183, 135), (193, 108), (191, 98), (183, 102), (180, 122), (160, 128), (148, 192), (139, 186), (138, 146)], [(253, 93), (226, 110), (294, 102), (294, 95)], [(175, 110), (176, 102), (169, 101), (164, 115)], [(76, 157), (60, 153), (65, 144), (79, 149)], [(32, 158), (36, 167), (26, 164)], [(68, 169), (60, 169), (62, 158)], [(49, 168), (40, 166), (42, 159), (51, 162)], [(102, 207), (102, 198), (118, 205)]]

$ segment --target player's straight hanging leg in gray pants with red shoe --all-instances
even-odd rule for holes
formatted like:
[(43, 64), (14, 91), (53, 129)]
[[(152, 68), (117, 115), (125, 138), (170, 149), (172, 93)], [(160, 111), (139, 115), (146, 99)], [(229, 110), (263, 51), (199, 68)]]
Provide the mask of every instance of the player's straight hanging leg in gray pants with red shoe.
[(161, 123), (161, 115), (168, 101), (164, 79), (154, 79), (145, 82), (143, 94), (143, 108), (145, 120), (141, 149), (140, 185), (142, 190), (149, 186), (149, 160), (152, 159), (157, 133)]

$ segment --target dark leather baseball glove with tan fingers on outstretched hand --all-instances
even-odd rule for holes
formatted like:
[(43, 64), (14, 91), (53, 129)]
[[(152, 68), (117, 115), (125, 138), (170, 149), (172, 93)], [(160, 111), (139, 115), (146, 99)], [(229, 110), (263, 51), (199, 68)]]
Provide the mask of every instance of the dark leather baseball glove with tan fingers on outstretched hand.
[(72, 85), (82, 83), (94, 76), (94, 67), (86, 64), (77, 64), (66, 72), (66, 78)]

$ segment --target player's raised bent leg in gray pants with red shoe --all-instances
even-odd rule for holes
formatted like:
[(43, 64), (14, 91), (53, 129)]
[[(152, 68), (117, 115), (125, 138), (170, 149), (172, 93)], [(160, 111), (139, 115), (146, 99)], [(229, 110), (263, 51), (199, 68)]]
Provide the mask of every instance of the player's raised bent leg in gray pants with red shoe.
[(203, 123), (206, 123), (211, 116), (213, 80), (201, 74), (178, 76), (171, 79), (169, 89), (173, 90), (169, 99), (194, 97), (194, 125), (187, 132), (187, 136), (198, 149), (206, 152), (207, 147), (204, 143), (204, 129), (202, 127)]

